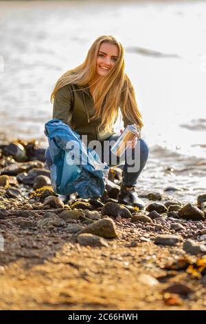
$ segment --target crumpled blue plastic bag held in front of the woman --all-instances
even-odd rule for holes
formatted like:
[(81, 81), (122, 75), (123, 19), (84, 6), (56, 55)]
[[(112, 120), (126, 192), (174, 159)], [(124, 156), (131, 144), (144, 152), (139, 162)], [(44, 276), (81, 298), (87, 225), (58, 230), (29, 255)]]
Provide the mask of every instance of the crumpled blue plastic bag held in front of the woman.
[(87, 149), (80, 134), (59, 119), (45, 123), (45, 135), (53, 161), (50, 171), (54, 191), (77, 192), (81, 198), (102, 196), (109, 167), (100, 161), (95, 150)]

